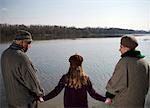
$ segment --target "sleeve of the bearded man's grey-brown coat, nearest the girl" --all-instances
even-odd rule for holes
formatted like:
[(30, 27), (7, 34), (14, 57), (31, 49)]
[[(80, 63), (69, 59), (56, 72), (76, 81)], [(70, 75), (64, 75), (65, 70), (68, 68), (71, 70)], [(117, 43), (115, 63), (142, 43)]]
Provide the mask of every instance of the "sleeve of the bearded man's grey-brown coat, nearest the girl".
[(27, 56), (22, 56), (20, 60), (22, 60), (22, 62), (18, 64), (19, 66), (15, 74), (17, 80), (35, 97), (43, 96), (44, 90), (40, 86), (38, 77), (36, 75), (37, 70), (34, 68)]

